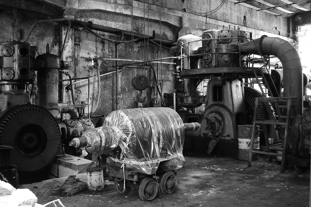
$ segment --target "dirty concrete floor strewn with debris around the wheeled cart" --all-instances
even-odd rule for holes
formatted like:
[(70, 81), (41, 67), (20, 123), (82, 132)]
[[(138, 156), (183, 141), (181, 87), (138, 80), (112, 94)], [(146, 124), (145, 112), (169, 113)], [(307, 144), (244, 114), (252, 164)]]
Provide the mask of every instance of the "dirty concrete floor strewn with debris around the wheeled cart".
[[(247, 161), (225, 155), (184, 152), (186, 165), (177, 171), (178, 189), (142, 201), (138, 190), (120, 195), (114, 183), (105, 181), (103, 191), (85, 189), (72, 197), (58, 196), (58, 187), (66, 178), (22, 185), (38, 197), (39, 204), (60, 198), (66, 207), (74, 206), (308, 206), (309, 174), (295, 170), (280, 173), (280, 165), (266, 157)], [(86, 174), (77, 176), (86, 181)], [(37, 188), (34, 188), (37, 187)]]

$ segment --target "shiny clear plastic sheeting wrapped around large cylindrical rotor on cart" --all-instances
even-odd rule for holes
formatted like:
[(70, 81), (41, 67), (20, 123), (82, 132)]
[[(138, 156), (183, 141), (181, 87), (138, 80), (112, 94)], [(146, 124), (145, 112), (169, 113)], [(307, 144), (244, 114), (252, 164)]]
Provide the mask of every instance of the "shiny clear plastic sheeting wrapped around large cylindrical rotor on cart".
[(111, 112), (104, 126), (87, 130), (81, 138), (87, 150), (108, 154), (115, 162), (141, 173), (154, 174), (183, 166), (184, 125), (170, 108), (140, 108)]

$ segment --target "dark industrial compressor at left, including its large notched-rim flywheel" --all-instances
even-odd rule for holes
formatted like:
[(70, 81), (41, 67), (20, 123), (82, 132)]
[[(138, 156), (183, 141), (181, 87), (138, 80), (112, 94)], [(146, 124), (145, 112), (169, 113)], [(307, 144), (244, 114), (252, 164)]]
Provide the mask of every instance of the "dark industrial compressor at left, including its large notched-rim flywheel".
[(81, 114), (87, 104), (60, 100), (60, 71), (68, 62), (50, 54), (48, 44), (37, 57), (28, 43), (4, 42), (0, 48), (0, 145), (13, 147), (12, 164), (20, 173), (38, 172), (64, 155), (63, 143), (94, 126)]

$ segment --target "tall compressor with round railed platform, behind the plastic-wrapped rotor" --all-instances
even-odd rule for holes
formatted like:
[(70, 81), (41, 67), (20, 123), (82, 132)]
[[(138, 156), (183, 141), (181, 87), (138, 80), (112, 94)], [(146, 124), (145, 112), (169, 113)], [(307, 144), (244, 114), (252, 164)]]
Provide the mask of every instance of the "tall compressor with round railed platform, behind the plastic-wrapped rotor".
[[(186, 142), (192, 142), (194, 148), (211, 153), (216, 147), (224, 154), (237, 155), (237, 126), (252, 124), (254, 98), (267, 96), (244, 87), (248, 78), (263, 77), (266, 82), (259, 84), (266, 84), (272, 96), (281, 95), (277, 93), (281, 92), (280, 84), (273, 86), (270, 76), (270, 55), (279, 58), (283, 66), (283, 96), (297, 97), (298, 115), (304, 117), (302, 122), (310, 120), (306, 118), (310, 110), (303, 110), (303, 74), (298, 52), (281, 38), (263, 35), (251, 39), (242, 30), (210, 29), (203, 32), (202, 38), (193, 34), (178, 38), (171, 53), (181, 57), (172, 72), (176, 77), (176, 108), (185, 123), (202, 125), (199, 132), (187, 133), (190, 141)], [(258, 62), (261, 65), (254, 64)], [(202, 86), (202, 83), (207, 85)], [(206, 95), (203, 95), (203, 87), (206, 87)], [(271, 109), (264, 110), (267, 112), (264, 116), (268, 116)], [(270, 132), (275, 133), (274, 127)], [(308, 140), (304, 143), (309, 143), (310, 127), (304, 127), (303, 136)]]

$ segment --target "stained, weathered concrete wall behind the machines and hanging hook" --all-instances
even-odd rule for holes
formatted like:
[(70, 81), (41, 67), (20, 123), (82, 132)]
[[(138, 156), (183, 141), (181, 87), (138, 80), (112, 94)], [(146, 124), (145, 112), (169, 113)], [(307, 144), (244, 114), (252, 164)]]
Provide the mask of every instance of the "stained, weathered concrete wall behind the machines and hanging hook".
[[(51, 3), (52, 2), (52, 3)], [(133, 2), (133, 7), (131, 6)], [(144, 3), (146, 2), (146, 3)], [(149, 3), (148, 3), (149, 2)], [(185, 0), (185, 4), (193, 11), (208, 12), (216, 8), (221, 0)], [(159, 4), (161, 7), (159, 7)], [(1, 6), (2, 5), (2, 6)], [(1, 1), (0, 13), (0, 41), (11, 40), (20, 41), (21, 35), (25, 35), (30, 26), (36, 20), (44, 18), (36, 13), (21, 12), (20, 9), (37, 11), (53, 16), (63, 16), (75, 18), (81, 21), (92, 21), (93, 24), (109, 26), (112, 28), (133, 31), (141, 34), (152, 35), (154, 30), (156, 37), (161, 37), (176, 41), (179, 36), (187, 33), (202, 35), (202, 32), (209, 28), (220, 29), (223, 27), (233, 29), (239, 26), (241, 30), (252, 34), (257, 38), (262, 34), (276, 36), (261, 29), (272, 29), (276, 27), (281, 34), (281, 38), (287, 37), (287, 19), (281, 16), (274, 16), (264, 11), (255, 11), (233, 2), (226, 1), (223, 7), (210, 16), (197, 16), (183, 11), (184, 6), (179, 0), (159, 1), (159, 0), (4, 0)], [(11, 10), (7, 9), (9, 6)], [(58, 6), (55, 6), (58, 5)], [(60, 6), (59, 6), (60, 5)], [(5, 9), (3, 9), (5, 8)], [(16, 21), (14, 22), (14, 8), (16, 8)], [(243, 25), (243, 16), (247, 17), (247, 27)], [(149, 17), (149, 18), (148, 18)], [(45, 17), (47, 18), (47, 17)], [(14, 22), (14, 26), (12, 26)], [(14, 38), (13, 30), (14, 28)], [(148, 29), (149, 28), (149, 29)], [(58, 23), (39, 24), (35, 27), (28, 42), (36, 45), (39, 54), (45, 52), (46, 43), (50, 44), (50, 52), (60, 54), (63, 40), (66, 34), (67, 25)], [(97, 32), (102, 36), (119, 40), (120, 36)], [(125, 39), (129, 39), (126, 37)], [(158, 57), (158, 46), (147, 41), (139, 43), (125, 43), (118, 45), (118, 57), (121, 59), (151, 60)], [(114, 58), (115, 44), (101, 38), (95, 37), (85, 29), (72, 27), (69, 31), (69, 38), (66, 43), (63, 60), (70, 62), (68, 70), (75, 78), (93, 77), (115, 70), (115, 61), (92, 61), (95, 57)], [(169, 57), (169, 51), (160, 49), (160, 57)], [(172, 60), (166, 60), (169, 62)], [(119, 61), (119, 64), (128, 63)], [(157, 64), (153, 63), (157, 69)], [(170, 75), (174, 70), (173, 65), (159, 65), (159, 82), (163, 84), (163, 92), (174, 91), (174, 78)], [(125, 67), (120, 72), (120, 109), (133, 108), (136, 106), (137, 91), (132, 88), (131, 80), (133, 76), (144, 74), (150, 83), (154, 84), (153, 74), (150, 69), (142, 67)], [(67, 78), (67, 77), (64, 77)], [(65, 83), (68, 84), (68, 83)], [(92, 115), (108, 114), (116, 109), (116, 77), (115, 73), (101, 77), (101, 92), (99, 107)], [(91, 110), (94, 109), (97, 96), (97, 79), (91, 79)], [(75, 98), (80, 101), (87, 101), (87, 81), (75, 85)], [(151, 87), (143, 91), (142, 97), (147, 97), (144, 107), (153, 106), (151, 99), (153, 91)], [(65, 92), (65, 101), (71, 100), (70, 92)], [(157, 105), (158, 106), (158, 105)]]

